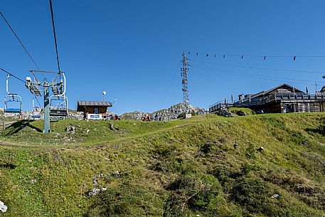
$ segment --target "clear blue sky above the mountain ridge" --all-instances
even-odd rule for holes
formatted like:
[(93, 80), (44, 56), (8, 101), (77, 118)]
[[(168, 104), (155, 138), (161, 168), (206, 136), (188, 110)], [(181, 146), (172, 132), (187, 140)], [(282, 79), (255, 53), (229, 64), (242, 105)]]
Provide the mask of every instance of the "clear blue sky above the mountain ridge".
[[(107, 99), (113, 112), (152, 112), (181, 102), (179, 61), (183, 51), (243, 54), (244, 58), (189, 55), (191, 105), (208, 107), (224, 97), (267, 90), (282, 80), (217, 73), (236, 73), (311, 80), (321, 74), (256, 70), (257, 68), (323, 71), (325, 58), (249, 58), (245, 55), (325, 55), (325, 1), (85, 1), (53, 0), (60, 65), (65, 70), (69, 107), (77, 100)], [(1, 1), (0, 10), (43, 70), (56, 70), (47, 0)], [(0, 21), (0, 67), (24, 78), (35, 68), (3, 20)], [(324, 70), (325, 73), (325, 70)], [(244, 75), (244, 74), (242, 74)], [(6, 75), (0, 75), (5, 95)], [(284, 80), (285, 81), (285, 80)], [(305, 84), (287, 81), (305, 90)], [(12, 92), (32, 96), (11, 80)], [(2, 106), (1, 106), (2, 107)]]

